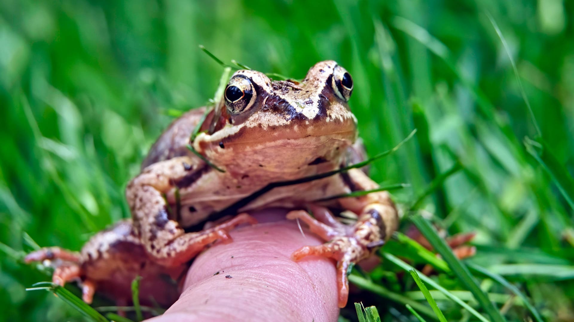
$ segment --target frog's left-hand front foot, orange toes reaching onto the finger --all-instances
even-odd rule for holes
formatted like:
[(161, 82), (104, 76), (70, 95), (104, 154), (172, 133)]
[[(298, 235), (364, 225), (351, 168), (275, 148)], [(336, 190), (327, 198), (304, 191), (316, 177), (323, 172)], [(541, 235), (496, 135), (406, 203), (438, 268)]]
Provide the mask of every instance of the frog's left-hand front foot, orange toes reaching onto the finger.
[(257, 220), (249, 214), (236, 215), (228, 221), (220, 223), (210, 229), (197, 231), (195, 233), (184, 233), (179, 236), (172, 235), (170, 239), (164, 239), (160, 245), (156, 241), (153, 247), (148, 248), (148, 252), (165, 266), (177, 266), (188, 262), (199, 254), (208, 245), (215, 241), (231, 242), (229, 232), (239, 225), (254, 225)]

